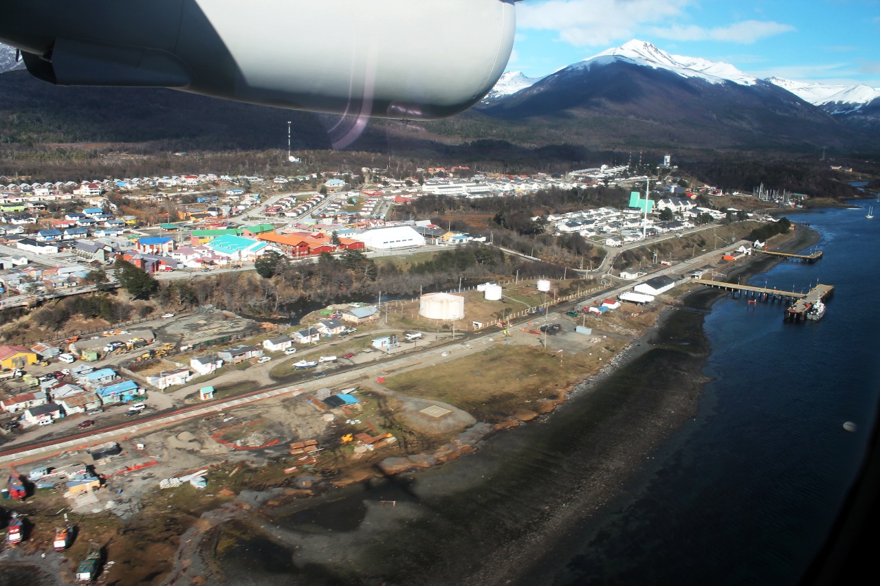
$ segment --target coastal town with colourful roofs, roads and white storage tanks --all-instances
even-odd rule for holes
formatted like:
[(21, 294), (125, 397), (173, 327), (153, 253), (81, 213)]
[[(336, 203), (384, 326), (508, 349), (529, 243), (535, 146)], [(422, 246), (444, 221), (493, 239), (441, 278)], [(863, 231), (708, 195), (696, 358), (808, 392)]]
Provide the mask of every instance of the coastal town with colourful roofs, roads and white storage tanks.
[[(579, 381), (632, 348), (682, 290), (766, 246), (744, 237), (778, 221), (767, 213), (778, 209), (773, 203), (751, 195), (742, 196), (754, 200), (749, 211), (716, 209), (697, 201), (698, 193), (704, 204), (709, 192), (722, 197), (710, 187), (691, 192), (670, 180), (646, 196), (638, 190), (647, 187), (643, 178), (622, 177), (624, 168), (589, 171), (567, 178), (379, 177), (356, 191), (350, 173), (335, 172), (271, 182), (213, 175), (95, 181), (68, 186), (70, 193), (62, 185), (5, 186), (0, 284), (7, 311), (117, 289), (120, 259), (160, 279), (198, 279), (253, 271), (269, 253), (313, 262), (347, 251), (381, 258), (501, 247), (429, 220), (392, 219), (393, 206), (430, 194), (517, 197), (609, 179), (632, 189), (626, 208), (540, 218), (550, 234), (576, 233), (607, 251), (600, 266), (571, 267), (568, 279), (516, 275), (414, 298), (330, 304), (296, 323), (212, 307), (158, 308), (111, 321), (110, 329), (0, 346), (0, 462), (11, 468), (3, 494), (15, 526), (29, 529), (27, 539), (10, 532), (7, 544), (36, 552), (62, 530), (78, 533), (73, 546), (55, 551), (77, 567), (65, 576), (92, 580), (112, 566), (101, 567), (104, 546), (87, 535), (93, 524), (107, 516), (130, 521), (155, 506), (157, 491), (231, 502), (253, 486), (244, 475), (232, 479), (245, 466), (263, 470), (260, 486), (296, 487), (303, 497), (369, 478), (371, 466), (397, 474), (458, 458), (481, 437), (552, 411)], [(348, 180), (335, 179), (340, 175)], [(312, 191), (309, 181), (318, 180), (324, 184)], [(291, 193), (290, 182), (305, 182), (305, 190)], [(153, 193), (158, 188), (180, 191)], [(125, 213), (135, 209), (131, 201), (160, 202), (167, 217)], [(621, 253), (666, 240), (679, 245), (681, 258), (615, 272)], [(514, 374), (539, 372), (542, 384), (517, 390), (518, 378), (510, 379), (512, 397), (495, 399), (488, 411), (466, 407), (484, 392), (479, 388), (448, 395), (432, 385), (439, 373), (473, 359), (522, 362)], [(558, 369), (568, 363), (577, 367)], [(426, 370), (429, 381), (420, 378)], [(414, 394), (408, 377), (424, 390)], [(48, 527), (45, 510), (56, 506), (81, 522)]]

